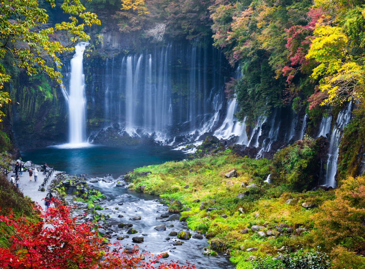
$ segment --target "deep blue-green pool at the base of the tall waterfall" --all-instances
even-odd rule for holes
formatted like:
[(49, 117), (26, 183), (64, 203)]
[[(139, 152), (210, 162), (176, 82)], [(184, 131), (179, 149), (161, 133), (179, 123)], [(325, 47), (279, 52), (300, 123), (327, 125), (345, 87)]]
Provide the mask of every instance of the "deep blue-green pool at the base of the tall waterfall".
[(20, 152), (22, 160), (34, 164), (54, 166), (58, 171), (69, 174), (86, 173), (91, 176), (112, 174), (114, 178), (137, 167), (162, 164), (166, 161), (181, 161), (185, 155), (168, 146), (101, 146), (79, 149), (46, 147)]

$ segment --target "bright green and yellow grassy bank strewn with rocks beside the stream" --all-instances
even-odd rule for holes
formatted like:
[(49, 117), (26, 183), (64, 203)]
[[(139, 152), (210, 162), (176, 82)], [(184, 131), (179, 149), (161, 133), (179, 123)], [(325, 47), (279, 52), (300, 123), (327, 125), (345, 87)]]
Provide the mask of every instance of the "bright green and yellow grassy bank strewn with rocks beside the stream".
[[(308, 148), (303, 143), (292, 145), (285, 149), (285, 156), (279, 151), (273, 160), (239, 157), (226, 150), (191, 161), (138, 168), (126, 179), (130, 189), (160, 195), (171, 212), (182, 210), (188, 227), (205, 234), (211, 248), (229, 253), (237, 268), (251, 268), (252, 256), (270, 261), (276, 257), (281, 262), (285, 255), (305, 255), (318, 247), (331, 253), (333, 245), (319, 239), (316, 221), (323, 218), (319, 217), (323, 204), (336, 198), (335, 191), (307, 191), (305, 187), (313, 180), (308, 176), (293, 180), (295, 171), (313, 169), (309, 167), (310, 149), (318, 148), (318, 143), (321, 141), (309, 141)], [(298, 153), (296, 157), (294, 153)], [(292, 169), (285, 165), (290, 163), (288, 158), (296, 160)], [(307, 166), (300, 170), (297, 164), (304, 163)], [(231, 170), (237, 177), (224, 176)], [(144, 173), (147, 171), (151, 173)], [(264, 182), (269, 173), (275, 176), (271, 184)], [(183, 205), (172, 203), (176, 200)], [(254, 225), (262, 227), (253, 231)], [(277, 230), (280, 232), (268, 233)], [(252, 247), (257, 249), (247, 251)], [(364, 264), (362, 260), (360, 264)]]

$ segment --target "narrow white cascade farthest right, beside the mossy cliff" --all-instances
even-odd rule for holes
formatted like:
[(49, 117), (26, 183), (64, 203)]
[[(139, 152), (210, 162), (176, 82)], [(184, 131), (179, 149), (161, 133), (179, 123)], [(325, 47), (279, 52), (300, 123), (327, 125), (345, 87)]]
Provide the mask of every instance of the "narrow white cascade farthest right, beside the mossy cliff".
[(339, 112), (335, 126), (331, 134), (330, 147), (328, 149), (328, 159), (326, 168), (326, 181), (324, 186), (336, 187), (335, 176), (337, 173), (337, 162), (338, 162), (338, 146), (341, 140), (343, 128), (350, 122), (351, 118), (351, 101), (345, 109)]

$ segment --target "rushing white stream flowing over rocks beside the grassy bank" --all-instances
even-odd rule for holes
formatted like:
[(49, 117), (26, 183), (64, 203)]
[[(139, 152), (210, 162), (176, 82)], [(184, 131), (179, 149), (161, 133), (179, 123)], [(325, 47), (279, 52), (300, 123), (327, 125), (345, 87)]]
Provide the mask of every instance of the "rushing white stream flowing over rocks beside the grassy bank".
[[(94, 188), (99, 188), (99, 191), (107, 196), (107, 200), (104, 200), (105, 204), (100, 206), (104, 210), (100, 210), (105, 215), (110, 215), (108, 223), (112, 225), (111, 230), (115, 230), (110, 239), (111, 243), (116, 241), (117, 237), (128, 235), (129, 238), (125, 238), (119, 241), (123, 246), (133, 246), (132, 244), (137, 244), (132, 242), (132, 237), (143, 236), (144, 242), (141, 243), (140, 248), (145, 249), (153, 254), (160, 254), (162, 252), (168, 252), (169, 257), (167, 259), (161, 259), (161, 261), (180, 261), (179, 264), (184, 264), (185, 261), (195, 264), (197, 269), (233, 269), (235, 265), (229, 261), (229, 255), (224, 255), (224, 253), (217, 251), (216, 256), (207, 256), (201, 254), (204, 251), (204, 247), (208, 247), (207, 239), (194, 239), (190, 238), (184, 241), (181, 246), (173, 246), (175, 240), (179, 240), (176, 236), (169, 236), (171, 231), (180, 232), (181, 230), (187, 230), (187, 223), (180, 222), (180, 214), (171, 214), (169, 216), (170, 221), (166, 219), (156, 219), (163, 213), (167, 213), (167, 206), (159, 204), (154, 199), (160, 197), (155, 197), (148, 195), (146, 193), (130, 192), (126, 187), (116, 187), (116, 183), (105, 183), (99, 181), (98, 183), (89, 183), (93, 185)], [(161, 199), (161, 198), (160, 198)], [(123, 205), (118, 205), (119, 203)], [(115, 209), (118, 207), (118, 209)], [(123, 215), (123, 218), (118, 218), (119, 215)], [(141, 216), (141, 220), (130, 220), (132, 216)], [(138, 231), (136, 234), (126, 234), (129, 229), (119, 229), (117, 227), (118, 223), (131, 223), (132, 228)], [(159, 224), (164, 224), (166, 226), (166, 231), (156, 231), (154, 227)], [(168, 227), (168, 225), (173, 224), (174, 227)], [(189, 232), (194, 235), (192, 230)], [(147, 234), (147, 235), (142, 235)], [(169, 237), (169, 240), (166, 240)]]

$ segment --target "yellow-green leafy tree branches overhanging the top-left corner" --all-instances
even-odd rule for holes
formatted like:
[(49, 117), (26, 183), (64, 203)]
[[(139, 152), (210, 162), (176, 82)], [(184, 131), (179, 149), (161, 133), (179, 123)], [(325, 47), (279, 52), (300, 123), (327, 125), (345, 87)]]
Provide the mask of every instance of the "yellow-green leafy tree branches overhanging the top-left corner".
[[(46, 0), (53, 8), (55, 0)], [(61, 5), (64, 13), (70, 14), (69, 22), (55, 24), (50, 27), (46, 9), (39, 8), (37, 0), (5, 0), (0, 5), (0, 58), (9, 53), (16, 59), (18, 68), (27, 74), (45, 73), (57, 83), (61, 83), (61, 73), (54, 68), (61, 68), (57, 55), (72, 51), (78, 41), (90, 39), (84, 32), (84, 26), (100, 25), (96, 14), (84, 12), (85, 8), (79, 0), (64, 0)], [(78, 18), (82, 19), (79, 24)], [(50, 63), (47, 63), (50, 61)], [(0, 89), (10, 76), (0, 66)], [(0, 106), (11, 100), (8, 94), (0, 91)], [(0, 117), (4, 116), (0, 112)]]

